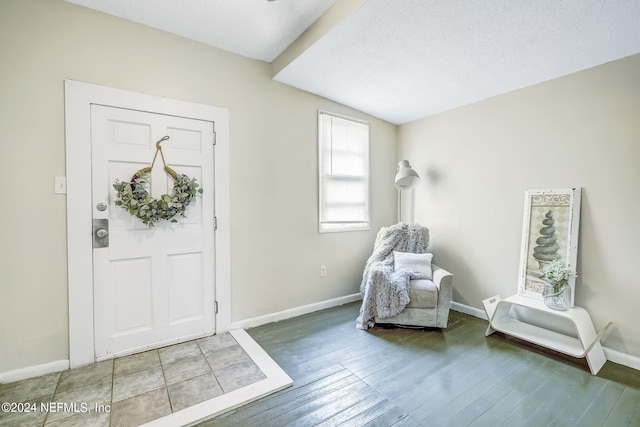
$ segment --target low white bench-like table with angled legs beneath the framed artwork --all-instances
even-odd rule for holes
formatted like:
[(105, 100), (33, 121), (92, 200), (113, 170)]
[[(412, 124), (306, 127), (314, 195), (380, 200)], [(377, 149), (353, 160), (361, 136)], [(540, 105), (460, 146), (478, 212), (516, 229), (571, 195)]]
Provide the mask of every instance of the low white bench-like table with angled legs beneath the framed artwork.
[(593, 375), (607, 361), (600, 339), (612, 323), (597, 333), (583, 308), (553, 310), (542, 300), (519, 295), (504, 300), (496, 295), (482, 304), (489, 319), (487, 336), (499, 331), (572, 357), (585, 357)]

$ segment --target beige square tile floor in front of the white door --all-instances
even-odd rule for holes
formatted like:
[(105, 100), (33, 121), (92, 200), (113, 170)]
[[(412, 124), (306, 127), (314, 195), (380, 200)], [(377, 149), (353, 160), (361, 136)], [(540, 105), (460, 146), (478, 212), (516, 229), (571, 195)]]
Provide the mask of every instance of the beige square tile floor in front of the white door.
[(224, 333), (0, 384), (0, 426), (138, 426), (264, 378)]

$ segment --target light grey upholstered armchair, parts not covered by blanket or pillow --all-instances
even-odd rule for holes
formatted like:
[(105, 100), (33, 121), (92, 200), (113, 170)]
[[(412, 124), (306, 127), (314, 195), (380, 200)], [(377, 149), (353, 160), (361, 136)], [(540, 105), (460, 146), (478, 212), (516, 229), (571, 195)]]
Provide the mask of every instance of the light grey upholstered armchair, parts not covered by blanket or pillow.
[[(423, 227), (425, 245), (429, 229)], [(453, 274), (432, 264), (433, 280), (411, 280), (410, 302), (393, 317), (375, 318), (376, 323), (400, 326), (446, 328), (453, 294)]]

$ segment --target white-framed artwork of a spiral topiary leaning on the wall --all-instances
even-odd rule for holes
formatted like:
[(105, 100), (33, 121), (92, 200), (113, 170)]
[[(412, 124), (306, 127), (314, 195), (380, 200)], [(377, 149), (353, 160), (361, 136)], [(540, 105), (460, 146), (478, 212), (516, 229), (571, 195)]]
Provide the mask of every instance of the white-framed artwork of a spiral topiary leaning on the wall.
[[(576, 269), (580, 196), (579, 187), (525, 191), (518, 295), (542, 299), (545, 263), (562, 259)], [(575, 280), (569, 279), (571, 307)]]

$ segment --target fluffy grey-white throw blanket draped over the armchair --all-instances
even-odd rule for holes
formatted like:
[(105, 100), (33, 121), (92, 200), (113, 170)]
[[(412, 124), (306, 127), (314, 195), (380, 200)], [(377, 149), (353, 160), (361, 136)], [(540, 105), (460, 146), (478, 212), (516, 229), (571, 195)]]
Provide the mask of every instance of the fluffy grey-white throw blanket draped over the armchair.
[(394, 270), (393, 251), (424, 253), (426, 246), (419, 224), (383, 227), (376, 236), (373, 253), (367, 260), (360, 284), (362, 306), (356, 320), (358, 329), (368, 329), (374, 318), (393, 317), (409, 303), (410, 279), (425, 276), (411, 270)]

